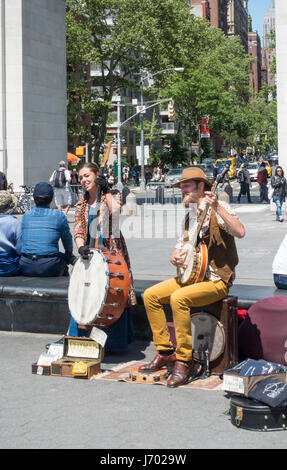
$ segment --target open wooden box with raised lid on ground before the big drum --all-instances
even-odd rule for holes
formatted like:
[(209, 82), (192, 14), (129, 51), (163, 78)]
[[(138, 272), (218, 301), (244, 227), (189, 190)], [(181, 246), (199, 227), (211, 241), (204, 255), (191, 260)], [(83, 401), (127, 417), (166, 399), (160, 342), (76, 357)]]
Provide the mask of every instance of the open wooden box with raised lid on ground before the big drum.
[(90, 379), (101, 372), (103, 348), (91, 338), (64, 337), (63, 357), (51, 364), (51, 375)]

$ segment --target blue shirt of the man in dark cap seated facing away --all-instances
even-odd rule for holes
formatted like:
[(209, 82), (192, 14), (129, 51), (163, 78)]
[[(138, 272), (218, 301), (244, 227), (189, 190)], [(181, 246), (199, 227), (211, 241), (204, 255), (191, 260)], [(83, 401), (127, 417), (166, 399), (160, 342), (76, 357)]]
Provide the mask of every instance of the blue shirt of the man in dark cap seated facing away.
[(50, 255), (59, 253), (62, 240), (66, 253), (73, 251), (73, 239), (67, 217), (49, 207), (36, 206), (23, 215), (22, 253)]

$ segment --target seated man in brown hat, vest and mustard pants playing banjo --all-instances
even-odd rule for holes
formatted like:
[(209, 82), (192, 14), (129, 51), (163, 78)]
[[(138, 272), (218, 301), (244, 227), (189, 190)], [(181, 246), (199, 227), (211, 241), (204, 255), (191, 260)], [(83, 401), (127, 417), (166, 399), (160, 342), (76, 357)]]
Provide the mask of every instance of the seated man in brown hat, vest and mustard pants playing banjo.
[[(157, 354), (150, 363), (139, 368), (141, 373), (150, 373), (173, 367), (168, 387), (183, 385), (199, 374), (202, 366), (192, 358), (190, 308), (209, 305), (227, 296), (238, 263), (234, 237), (245, 236), (243, 224), (227, 203), (218, 201), (215, 189), (211, 188), (212, 183), (200, 168), (186, 168), (179, 183), (173, 186), (180, 187), (186, 208), (196, 205), (197, 217), (193, 224), (189, 224), (193, 213), (190, 209), (185, 218), (183, 236), (171, 255), (170, 262), (177, 268), (177, 277), (160, 282), (144, 293)], [(190, 247), (191, 244), (194, 247), (192, 266), (199, 259), (199, 247), (206, 248), (206, 266), (204, 269), (204, 259), (201, 259), (200, 267), (195, 267), (197, 275), (191, 275), (183, 282), (184, 272), (188, 269), (185, 245)], [(173, 313), (176, 350), (167, 328), (163, 309), (166, 304), (170, 304)]]

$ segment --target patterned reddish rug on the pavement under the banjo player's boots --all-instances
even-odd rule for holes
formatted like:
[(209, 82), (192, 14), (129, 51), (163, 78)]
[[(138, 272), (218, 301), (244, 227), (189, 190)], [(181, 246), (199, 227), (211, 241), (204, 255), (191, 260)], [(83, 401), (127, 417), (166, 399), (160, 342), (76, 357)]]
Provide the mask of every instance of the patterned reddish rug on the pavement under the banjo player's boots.
[[(91, 380), (112, 380), (116, 382), (129, 382), (136, 384), (166, 385), (166, 371), (162, 370), (153, 374), (140, 374), (137, 369), (143, 364), (141, 361), (122, 363), (110, 370), (94, 375)], [(222, 380), (218, 375), (200, 377), (193, 382), (182, 385), (180, 388), (195, 388), (202, 390), (222, 391)]]

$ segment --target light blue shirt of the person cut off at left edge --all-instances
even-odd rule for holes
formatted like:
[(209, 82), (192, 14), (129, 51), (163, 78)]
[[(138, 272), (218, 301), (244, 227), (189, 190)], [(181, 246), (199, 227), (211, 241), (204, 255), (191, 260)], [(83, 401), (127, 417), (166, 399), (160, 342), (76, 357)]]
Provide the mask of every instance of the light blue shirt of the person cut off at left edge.
[(14, 215), (0, 215), (0, 254), (21, 254), (21, 222)]

